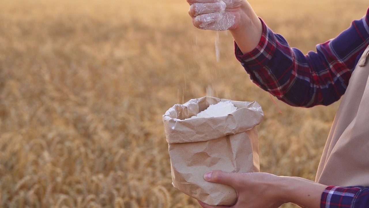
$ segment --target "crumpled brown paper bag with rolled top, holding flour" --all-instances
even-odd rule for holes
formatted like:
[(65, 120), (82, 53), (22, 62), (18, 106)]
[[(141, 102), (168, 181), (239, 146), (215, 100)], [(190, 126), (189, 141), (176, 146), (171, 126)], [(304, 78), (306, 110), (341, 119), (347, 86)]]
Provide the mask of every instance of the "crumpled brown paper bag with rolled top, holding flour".
[(228, 100), (193, 99), (174, 105), (163, 115), (173, 186), (212, 206), (233, 205), (237, 194), (228, 185), (205, 181), (206, 172), (260, 171), (256, 125), (263, 111), (258, 103), (231, 101), (237, 110), (227, 116), (190, 118), (220, 101)]

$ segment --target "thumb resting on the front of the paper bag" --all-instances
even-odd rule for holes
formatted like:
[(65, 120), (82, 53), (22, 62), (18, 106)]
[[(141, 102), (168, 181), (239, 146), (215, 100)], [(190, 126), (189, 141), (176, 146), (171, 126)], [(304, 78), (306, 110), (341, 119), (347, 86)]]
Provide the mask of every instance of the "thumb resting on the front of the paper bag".
[(230, 185), (236, 187), (239, 184), (239, 174), (223, 172), (220, 170), (210, 171), (204, 175), (204, 179), (209, 182)]

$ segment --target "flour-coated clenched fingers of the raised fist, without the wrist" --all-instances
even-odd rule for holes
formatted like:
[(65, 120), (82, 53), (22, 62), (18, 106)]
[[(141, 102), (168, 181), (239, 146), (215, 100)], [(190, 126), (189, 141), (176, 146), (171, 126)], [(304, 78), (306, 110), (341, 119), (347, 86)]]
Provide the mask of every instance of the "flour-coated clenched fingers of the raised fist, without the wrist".
[(194, 26), (203, 30), (232, 30), (241, 20), (242, 0), (187, 0)]

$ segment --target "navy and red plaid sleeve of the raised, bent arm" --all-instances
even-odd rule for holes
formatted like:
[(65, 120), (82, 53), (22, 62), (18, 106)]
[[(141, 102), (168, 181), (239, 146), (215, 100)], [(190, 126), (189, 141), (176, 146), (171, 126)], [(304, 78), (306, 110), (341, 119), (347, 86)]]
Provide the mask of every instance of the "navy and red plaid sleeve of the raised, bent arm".
[(339, 100), (369, 44), (369, 8), (361, 20), (307, 55), (262, 24), (258, 46), (243, 54), (235, 43), (235, 55), (256, 85), (294, 106), (329, 105)]

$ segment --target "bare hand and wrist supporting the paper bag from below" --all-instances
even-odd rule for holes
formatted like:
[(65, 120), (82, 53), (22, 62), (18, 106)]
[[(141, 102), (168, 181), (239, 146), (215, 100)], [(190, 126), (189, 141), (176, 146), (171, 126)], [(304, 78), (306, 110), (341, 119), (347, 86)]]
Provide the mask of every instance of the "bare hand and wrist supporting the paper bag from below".
[[(212, 171), (204, 175), (210, 182), (230, 185), (237, 192), (237, 203), (231, 208), (278, 208), (292, 202), (309, 208), (319, 208), (327, 187), (297, 177), (281, 177), (268, 173), (227, 173)], [(199, 201), (201, 207), (212, 208)], [(229, 206), (217, 206), (227, 208)]]

